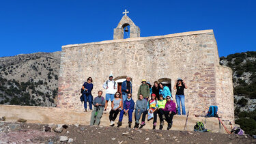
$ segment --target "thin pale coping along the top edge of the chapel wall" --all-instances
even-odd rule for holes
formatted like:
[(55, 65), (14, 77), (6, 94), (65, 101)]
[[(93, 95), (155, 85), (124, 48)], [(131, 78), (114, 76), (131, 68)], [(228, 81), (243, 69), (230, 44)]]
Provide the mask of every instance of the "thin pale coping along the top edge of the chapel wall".
[(76, 47), (76, 46), (86, 46), (91, 44), (110, 44), (115, 42), (133, 42), (133, 41), (139, 41), (139, 40), (151, 40), (151, 39), (161, 39), (161, 38), (171, 38), (171, 37), (178, 37), (178, 36), (185, 36), (185, 35), (198, 35), (203, 33), (212, 33), (212, 29), (208, 30), (202, 30), (202, 31), (188, 31), (184, 33), (173, 33), (169, 35), (159, 35), (159, 36), (150, 36), (150, 37), (139, 37), (139, 38), (126, 38), (126, 39), (119, 39), (119, 40), (104, 40), (102, 42), (89, 42), (84, 44), (68, 44), (65, 46), (61, 46), (61, 48), (70, 48), (70, 47)]

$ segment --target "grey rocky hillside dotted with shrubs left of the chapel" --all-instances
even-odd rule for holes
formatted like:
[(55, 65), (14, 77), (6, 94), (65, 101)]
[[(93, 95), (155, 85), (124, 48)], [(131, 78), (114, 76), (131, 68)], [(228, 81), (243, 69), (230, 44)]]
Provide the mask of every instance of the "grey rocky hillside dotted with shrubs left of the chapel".
[(0, 104), (55, 106), (60, 52), (0, 57)]

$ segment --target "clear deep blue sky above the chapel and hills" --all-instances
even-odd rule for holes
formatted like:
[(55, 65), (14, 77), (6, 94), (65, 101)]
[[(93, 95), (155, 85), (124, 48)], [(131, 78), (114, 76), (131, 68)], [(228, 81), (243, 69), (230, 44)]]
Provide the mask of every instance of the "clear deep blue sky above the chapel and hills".
[(0, 0), (0, 57), (112, 40), (125, 9), (141, 37), (213, 29), (220, 57), (256, 51), (255, 0)]

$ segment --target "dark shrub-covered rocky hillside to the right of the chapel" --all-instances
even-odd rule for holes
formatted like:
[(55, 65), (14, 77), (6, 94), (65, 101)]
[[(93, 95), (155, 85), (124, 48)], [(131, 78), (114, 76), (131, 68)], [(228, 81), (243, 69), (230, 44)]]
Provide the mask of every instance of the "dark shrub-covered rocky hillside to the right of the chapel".
[(256, 134), (256, 52), (221, 57), (220, 63), (233, 70), (236, 124), (247, 134)]

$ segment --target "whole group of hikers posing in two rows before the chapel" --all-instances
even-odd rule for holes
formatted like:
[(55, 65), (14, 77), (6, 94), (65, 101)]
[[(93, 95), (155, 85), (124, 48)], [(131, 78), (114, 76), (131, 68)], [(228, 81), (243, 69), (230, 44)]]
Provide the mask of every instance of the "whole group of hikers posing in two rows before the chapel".
[[(85, 100), (85, 112), (87, 111), (87, 102), (89, 102), (89, 111), (92, 111), (90, 125), (100, 124), (100, 118), (102, 117), (103, 111), (106, 111), (109, 100), (111, 100), (111, 111), (109, 113), (110, 126), (115, 126), (114, 121), (120, 113), (117, 127), (122, 126), (124, 115), (128, 115), (128, 126), (131, 128), (132, 113), (134, 112), (134, 128), (143, 128), (143, 126), (145, 126), (145, 117), (147, 115), (147, 120), (153, 119), (153, 129), (156, 129), (158, 115), (160, 119), (159, 129), (162, 130), (164, 121), (167, 121), (167, 130), (169, 130), (173, 124), (173, 115), (176, 113), (177, 115), (181, 115), (180, 103), (182, 105), (182, 115), (186, 115), (184, 89), (187, 89), (187, 86), (181, 78), (178, 78), (177, 81), (175, 81), (173, 87), (173, 89), (177, 89), (175, 95), (177, 109), (169, 87), (162, 83), (158, 83), (158, 81), (155, 81), (152, 87), (150, 82), (143, 79), (137, 93), (138, 100), (136, 103), (132, 100), (132, 82), (130, 81), (129, 76), (127, 76), (126, 81), (122, 83), (122, 93), (117, 91), (117, 83), (113, 80), (112, 74), (109, 76), (109, 79), (104, 82), (103, 88), (106, 89), (106, 99), (102, 97), (102, 91), (98, 91), (98, 96), (92, 100), (92, 78), (87, 78), (87, 82), (83, 84), (82, 89)], [(94, 105), (94, 110), (92, 110), (92, 105)], [(140, 119), (141, 124), (139, 124)]]

